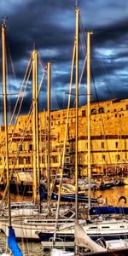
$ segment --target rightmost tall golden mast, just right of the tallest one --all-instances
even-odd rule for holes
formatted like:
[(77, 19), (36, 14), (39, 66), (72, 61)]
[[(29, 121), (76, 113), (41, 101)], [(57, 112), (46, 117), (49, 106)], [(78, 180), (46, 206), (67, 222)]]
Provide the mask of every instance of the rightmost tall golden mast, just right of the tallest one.
[[(87, 32), (87, 106), (88, 106), (88, 179), (89, 179), (89, 212), (90, 212), (90, 177), (91, 177), (91, 166), (90, 166), (90, 35), (92, 32)], [(90, 214), (89, 214), (90, 218)]]

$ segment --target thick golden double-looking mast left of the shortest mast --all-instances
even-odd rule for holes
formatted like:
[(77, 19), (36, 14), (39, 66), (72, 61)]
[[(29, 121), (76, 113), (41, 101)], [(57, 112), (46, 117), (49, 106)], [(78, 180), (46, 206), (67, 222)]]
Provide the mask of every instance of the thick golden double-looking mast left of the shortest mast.
[(38, 197), (37, 176), (37, 88), (38, 88), (38, 52), (32, 51), (32, 102), (33, 102), (33, 201)]

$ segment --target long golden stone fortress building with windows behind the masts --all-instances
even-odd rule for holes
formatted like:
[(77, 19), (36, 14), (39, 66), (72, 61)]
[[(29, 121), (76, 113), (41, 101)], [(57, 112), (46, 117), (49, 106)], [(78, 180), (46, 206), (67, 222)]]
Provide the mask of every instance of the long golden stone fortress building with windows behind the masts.
[[(61, 170), (63, 143), (68, 122), (65, 172), (74, 172), (75, 108), (50, 113), (50, 168), (53, 175)], [(128, 99), (113, 99), (90, 104), (92, 172), (127, 170)], [(24, 115), (9, 127), (9, 169), (32, 171), (32, 116)], [(38, 152), (42, 176), (47, 170), (48, 114), (38, 113)], [(4, 127), (0, 127), (0, 172), (5, 168)], [(87, 174), (87, 106), (79, 108), (79, 176)]]

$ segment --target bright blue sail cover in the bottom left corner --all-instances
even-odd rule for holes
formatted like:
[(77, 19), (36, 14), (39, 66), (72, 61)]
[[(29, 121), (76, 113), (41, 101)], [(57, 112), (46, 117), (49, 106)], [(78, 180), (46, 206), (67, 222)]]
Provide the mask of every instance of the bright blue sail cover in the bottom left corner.
[(12, 227), (9, 227), (8, 244), (14, 256), (23, 256), (15, 238), (15, 230)]

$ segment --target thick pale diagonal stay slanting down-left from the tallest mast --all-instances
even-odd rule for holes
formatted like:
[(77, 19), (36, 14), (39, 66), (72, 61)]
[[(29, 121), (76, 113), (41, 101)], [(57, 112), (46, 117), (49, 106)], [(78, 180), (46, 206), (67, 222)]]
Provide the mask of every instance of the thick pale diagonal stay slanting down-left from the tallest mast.
[(57, 204), (56, 216), (55, 216), (56, 222), (55, 222), (55, 233), (54, 233), (54, 239), (53, 239), (54, 245), (55, 245), (56, 231), (58, 228), (57, 221), (59, 218), (59, 209), (60, 209), (60, 201), (61, 201), (61, 184), (62, 184), (62, 177), (63, 177), (63, 171), (64, 171), (64, 164), (65, 164), (65, 152), (66, 152), (66, 143), (67, 143), (67, 131), (68, 131), (68, 120), (69, 120), (69, 113), (70, 113), (71, 92), (72, 92), (72, 84), (73, 84), (73, 65), (75, 60), (75, 53), (76, 53), (76, 40), (74, 41), (74, 46), (73, 46), (73, 61), (72, 61), (72, 70), (71, 70), (71, 76), (70, 76), (70, 88), (69, 88), (68, 106), (67, 106), (67, 123), (66, 123), (65, 137), (64, 137), (64, 147), (62, 152), (61, 178), (60, 178), (60, 186), (59, 186), (58, 204)]

